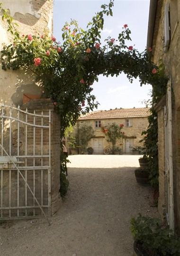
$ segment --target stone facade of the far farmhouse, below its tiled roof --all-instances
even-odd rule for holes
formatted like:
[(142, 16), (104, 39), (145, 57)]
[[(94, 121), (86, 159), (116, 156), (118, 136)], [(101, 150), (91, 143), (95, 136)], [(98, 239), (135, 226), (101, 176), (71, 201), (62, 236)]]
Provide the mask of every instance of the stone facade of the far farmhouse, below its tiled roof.
[[(97, 119), (101, 120), (101, 126), (106, 126), (111, 123), (117, 123), (121, 124), (123, 123), (125, 125), (125, 118), (113, 118), (113, 119)], [(94, 129), (94, 136), (95, 137), (104, 137), (103, 138), (103, 148), (105, 147), (112, 147), (112, 144), (106, 141), (106, 136), (104, 133), (102, 133), (101, 128), (95, 128), (95, 121), (96, 120), (79, 120), (79, 126), (81, 125), (90, 125)], [(138, 118), (131, 118), (132, 126), (130, 127), (123, 127), (122, 132), (125, 133), (127, 137), (134, 137), (134, 146), (143, 146), (143, 143), (140, 143), (139, 141), (143, 139), (141, 136), (142, 131), (146, 130), (148, 127), (148, 119), (147, 117), (138, 117)], [(76, 126), (77, 129), (77, 126)], [(117, 140), (116, 146), (122, 149), (122, 152), (125, 152), (125, 139), (123, 141)], [(90, 140), (88, 143), (88, 147), (93, 148), (93, 139)]]

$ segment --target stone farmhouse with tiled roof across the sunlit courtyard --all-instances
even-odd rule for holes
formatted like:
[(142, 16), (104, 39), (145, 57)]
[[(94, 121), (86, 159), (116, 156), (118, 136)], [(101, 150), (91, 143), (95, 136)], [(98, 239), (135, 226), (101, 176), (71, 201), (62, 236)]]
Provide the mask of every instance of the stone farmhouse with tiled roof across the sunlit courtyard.
[(143, 146), (141, 133), (147, 129), (149, 108), (120, 108), (113, 110), (99, 110), (86, 115), (81, 115), (76, 129), (83, 125), (91, 126), (94, 129), (94, 137), (91, 138), (88, 146), (93, 148), (94, 154), (102, 154), (105, 147), (112, 148), (110, 142), (107, 142), (105, 134), (101, 127), (108, 124), (123, 124), (122, 132), (125, 138), (117, 140), (116, 147), (121, 149), (122, 153), (130, 154), (136, 147)]

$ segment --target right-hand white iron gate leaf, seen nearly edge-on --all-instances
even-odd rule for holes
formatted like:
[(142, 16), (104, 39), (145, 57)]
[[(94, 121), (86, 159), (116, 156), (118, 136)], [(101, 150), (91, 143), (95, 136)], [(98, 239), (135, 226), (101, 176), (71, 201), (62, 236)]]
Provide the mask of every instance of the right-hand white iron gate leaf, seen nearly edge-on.
[(165, 188), (166, 188), (166, 219), (170, 228), (174, 229), (173, 207), (173, 164), (172, 164), (172, 110), (171, 81), (167, 87), (166, 106), (164, 107), (165, 124)]

